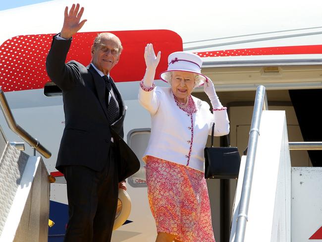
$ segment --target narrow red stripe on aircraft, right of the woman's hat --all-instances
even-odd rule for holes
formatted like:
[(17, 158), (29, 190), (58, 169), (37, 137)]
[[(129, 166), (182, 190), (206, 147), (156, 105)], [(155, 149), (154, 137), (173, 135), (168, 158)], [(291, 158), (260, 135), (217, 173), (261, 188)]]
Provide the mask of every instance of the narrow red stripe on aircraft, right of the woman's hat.
[(200, 57), (234, 57), (234, 56), (271, 56), (271, 55), (308, 55), (322, 54), (322, 45), (281, 46), (195, 53)]

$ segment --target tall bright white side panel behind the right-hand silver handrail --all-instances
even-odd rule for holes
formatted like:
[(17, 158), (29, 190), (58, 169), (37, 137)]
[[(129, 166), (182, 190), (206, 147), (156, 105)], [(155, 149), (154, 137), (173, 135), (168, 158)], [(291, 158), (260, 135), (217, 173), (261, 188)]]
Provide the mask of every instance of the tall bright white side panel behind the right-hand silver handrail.
[[(240, 176), (238, 183), (242, 182)], [(285, 112), (263, 111), (245, 242), (291, 241), (290, 176)], [(237, 184), (237, 194), (240, 194), (240, 188), (241, 185)], [(239, 199), (236, 196), (235, 207), (238, 206)], [(234, 208), (230, 241), (235, 238), (236, 213)]]

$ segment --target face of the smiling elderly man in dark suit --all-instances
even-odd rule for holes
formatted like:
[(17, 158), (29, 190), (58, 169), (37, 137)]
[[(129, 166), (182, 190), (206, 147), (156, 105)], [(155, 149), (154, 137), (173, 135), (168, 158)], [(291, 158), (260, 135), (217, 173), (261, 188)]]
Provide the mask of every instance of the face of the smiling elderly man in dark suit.
[(119, 60), (118, 41), (113, 37), (103, 36), (101, 42), (92, 46), (92, 63), (105, 75)]

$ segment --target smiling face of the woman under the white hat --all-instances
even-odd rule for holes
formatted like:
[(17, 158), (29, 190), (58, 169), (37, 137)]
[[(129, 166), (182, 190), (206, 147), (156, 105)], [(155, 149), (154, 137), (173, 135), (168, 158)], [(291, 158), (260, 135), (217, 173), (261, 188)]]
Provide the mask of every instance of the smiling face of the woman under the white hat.
[(171, 88), (179, 102), (185, 103), (195, 87), (194, 74), (188, 71), (173, 71)]

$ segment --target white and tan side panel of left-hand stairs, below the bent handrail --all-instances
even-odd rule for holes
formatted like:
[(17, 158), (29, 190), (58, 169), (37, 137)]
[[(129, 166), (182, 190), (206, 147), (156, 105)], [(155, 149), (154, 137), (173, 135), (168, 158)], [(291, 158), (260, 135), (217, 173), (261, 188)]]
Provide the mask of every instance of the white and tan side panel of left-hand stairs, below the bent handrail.
[(29, 157), (0, 242), (44, 242), (48, 236), (49, 181), (41, 157)]

